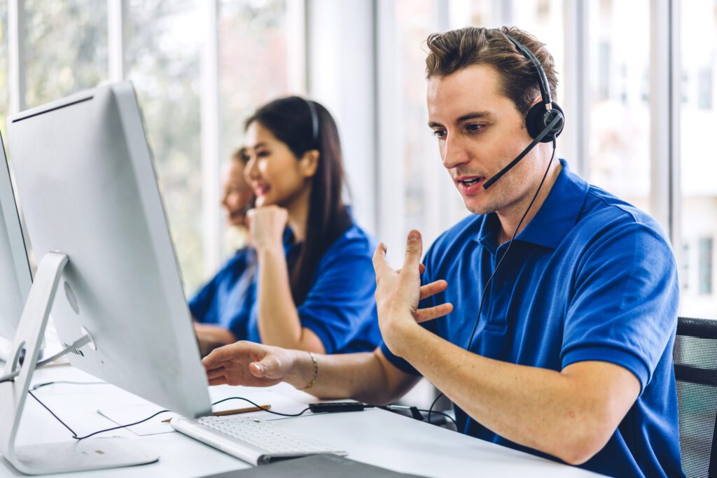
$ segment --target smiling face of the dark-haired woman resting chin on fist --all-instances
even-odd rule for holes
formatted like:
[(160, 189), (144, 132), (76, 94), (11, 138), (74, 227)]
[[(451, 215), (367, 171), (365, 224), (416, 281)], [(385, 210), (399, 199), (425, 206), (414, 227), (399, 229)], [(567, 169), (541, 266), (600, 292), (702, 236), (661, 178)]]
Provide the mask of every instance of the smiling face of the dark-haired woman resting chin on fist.
[(247, 128), (245, 140), (244, 176), (257, 196), (257, 207), (290, 208), (310, 187), (315, 168), (307, 168), (304, 159), (296, 158), (286, 143), (256, 121)]

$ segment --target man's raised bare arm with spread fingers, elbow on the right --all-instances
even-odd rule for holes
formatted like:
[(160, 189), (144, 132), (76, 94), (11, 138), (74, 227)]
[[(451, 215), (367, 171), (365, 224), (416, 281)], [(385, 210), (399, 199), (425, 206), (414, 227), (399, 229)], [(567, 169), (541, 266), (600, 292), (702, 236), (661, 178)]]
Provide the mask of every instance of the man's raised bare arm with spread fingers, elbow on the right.
[(506, 439), (571, 464), (602, 449), (640, 393), (637, 377), (604, 362), (574, 363), (561, 372), (504, 363), (424, 330), (417, 323), (429, 320), (417, 309), (421, 250), (420, 234), (412, 231), (400, 271), (386, 264), (384, 244), (374, 255), (379, 325), (389, 350)]

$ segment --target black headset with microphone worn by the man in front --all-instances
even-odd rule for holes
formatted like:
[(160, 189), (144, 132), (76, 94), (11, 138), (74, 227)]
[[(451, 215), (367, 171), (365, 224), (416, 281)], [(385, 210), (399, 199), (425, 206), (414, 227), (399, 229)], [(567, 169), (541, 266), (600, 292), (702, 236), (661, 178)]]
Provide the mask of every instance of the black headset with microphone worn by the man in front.
[(503, 35), (516, 46), (516, 49), (518, 49), (518, 52), (523, 54), (523, 57), (526, 57), (528, 61), (536, 67), (541, 102), (533, 105), (533, 107), (528, 110), (528, 114), (526, 115), (526, 128), (528, 128), (528, 134), (531, 135), (533, 141), (518, 156), (516, 156), (516, 158), (511, 161), (508, 166), (505, 166), (505, 168), (501, 169), (497, 174), (495, 174), (495, 176), (488, 179), (488, 181), (485, 181), (485, 183), (483, 183), (483, 188), (485, 189), (493, 186), (495, 181), (498, 181), (498, 179), (503, 177), (503, 174), (511, 171), (511, 169), (513, 169), (516, 164), (520, 163), (521, 159), (525, 158), (525, 156), (530, 153), (538, 143), (550, 143), (555, 140), (555, 138), (562, 133), (565, 125), (565, 115), (563, 114), (563, 110), (556, 102), (553, 101), (553, 98), (550, 95), (550, 85), (548, 77), (545, 74), (545, 70), (543, 70), (543, 65), (538, 62), (538, 59), (533, 52), (521, 44), (521, 42), (518, 42), (518, 40), (511, 37), (511, 35), (507, 33), (503, 33)]

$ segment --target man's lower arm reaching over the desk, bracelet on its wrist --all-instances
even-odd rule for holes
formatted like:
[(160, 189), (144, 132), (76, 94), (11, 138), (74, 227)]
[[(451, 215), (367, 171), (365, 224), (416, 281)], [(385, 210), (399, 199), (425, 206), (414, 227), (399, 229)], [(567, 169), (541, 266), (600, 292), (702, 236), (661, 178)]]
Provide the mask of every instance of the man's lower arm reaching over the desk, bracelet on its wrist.
[[(371, 353), (315, 355), (315, 358), (316, 382), (308, 392), (319, 398), (389, 403), (418, 380), (391, 365), (379, 349)], [(303, 388), (312, 381), (314, 371), (311, 356), (303, 350), (247, 341), (217, 348), (203, 363), (209, 385), (271, 386), (284, 381)]]

